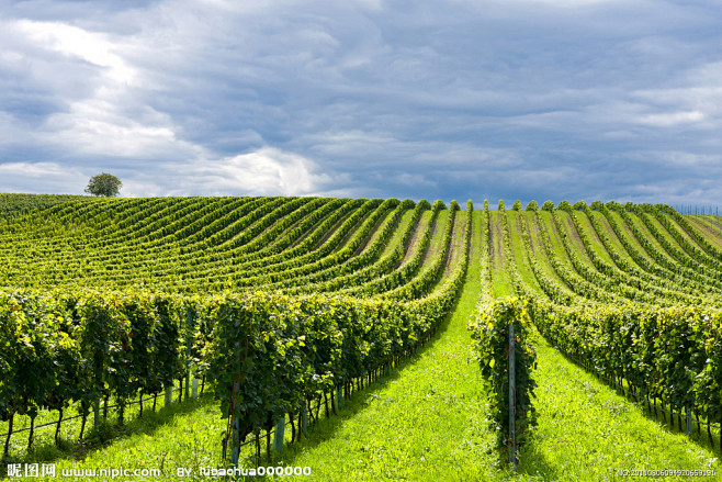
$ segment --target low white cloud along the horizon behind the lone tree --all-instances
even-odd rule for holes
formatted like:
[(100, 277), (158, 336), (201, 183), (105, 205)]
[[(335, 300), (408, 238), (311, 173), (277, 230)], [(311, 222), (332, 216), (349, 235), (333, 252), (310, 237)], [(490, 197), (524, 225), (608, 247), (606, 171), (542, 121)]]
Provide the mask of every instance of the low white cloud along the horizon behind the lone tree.
[[(80, 194), (100, 170), (94, 165), (69, 168), (59, 162), (4, 162), (0, 164), (0, 192)], [(124, 167), (112, 173), (123, 181), (123, 197), (349, 195), (339, 189), (348, 177), (321, 172), (313, 160), (271, 147), (225, 158), (157, 161), (151, 169)]]

